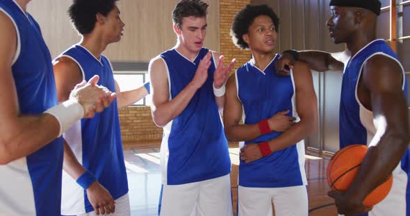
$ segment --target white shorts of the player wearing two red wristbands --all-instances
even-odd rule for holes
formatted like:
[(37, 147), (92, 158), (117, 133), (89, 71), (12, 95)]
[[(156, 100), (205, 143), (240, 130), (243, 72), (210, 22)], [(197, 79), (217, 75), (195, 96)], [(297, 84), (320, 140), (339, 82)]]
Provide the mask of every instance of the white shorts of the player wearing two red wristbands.
[(238, 216), (307, 216), (306, 186), (286, 188), (245, 188), (238, 186)]

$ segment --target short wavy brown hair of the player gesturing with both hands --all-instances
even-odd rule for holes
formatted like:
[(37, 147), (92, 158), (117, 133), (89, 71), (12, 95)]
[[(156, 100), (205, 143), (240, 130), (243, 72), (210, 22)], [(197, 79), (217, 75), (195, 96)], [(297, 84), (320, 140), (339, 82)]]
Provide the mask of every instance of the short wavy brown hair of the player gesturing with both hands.
[(181, 0), (172, 11), (172, 21), (181, 28), (183, 17), (206, 17), (208, 4), (201, 0)]

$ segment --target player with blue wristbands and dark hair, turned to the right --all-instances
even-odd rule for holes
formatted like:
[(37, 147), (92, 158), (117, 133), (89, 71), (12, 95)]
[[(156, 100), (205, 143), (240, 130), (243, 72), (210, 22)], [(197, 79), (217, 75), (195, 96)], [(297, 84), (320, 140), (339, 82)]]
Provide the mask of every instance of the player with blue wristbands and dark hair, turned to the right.
[(76, 0), (69, 17), (81, 34), (79, 44), (56, 58), (58, 100), (66, 100), (79, 80), (99, 75), (117, 99), (95, 118), (81, 120), (64, 134), (62, 215), (130, 215), (128, 183), (118, 109), (147, 96), (140, 87), (120, 91), (110, 61), (101, 53), (119, 42), (124, 30), (115, 0)]

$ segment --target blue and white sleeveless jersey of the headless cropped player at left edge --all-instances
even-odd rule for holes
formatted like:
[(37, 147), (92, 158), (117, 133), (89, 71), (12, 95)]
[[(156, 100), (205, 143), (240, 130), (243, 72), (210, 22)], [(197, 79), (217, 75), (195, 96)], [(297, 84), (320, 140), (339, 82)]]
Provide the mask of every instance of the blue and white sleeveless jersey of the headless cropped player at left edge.
[[(12, 72), (20, 112), (42, 114), (58, 100), (51, 55), (40, 26), (15, 1), (0, 1), (0, 11), (13, 21), (17, 32)], [(0, 215), (59, 215), (62, 168), (61, 138), (0, 165)]]

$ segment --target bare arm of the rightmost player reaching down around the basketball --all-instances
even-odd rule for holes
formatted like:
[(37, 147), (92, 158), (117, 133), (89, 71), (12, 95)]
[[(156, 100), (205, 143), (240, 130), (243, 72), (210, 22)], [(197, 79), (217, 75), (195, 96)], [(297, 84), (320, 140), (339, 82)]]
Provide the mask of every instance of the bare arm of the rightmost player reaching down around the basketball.
[(363, 199), (397, 167), (410, 141), (407, 102), (402, 91), (402, 68), (384, 55), (375, 55), (363, 67), (359, 100), (373, 111), (377, 132), (361, 168), (346, 192), (329, 192), (338, 213), (359, 215), (370, 210)]

